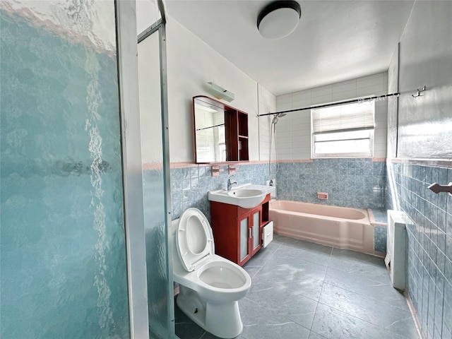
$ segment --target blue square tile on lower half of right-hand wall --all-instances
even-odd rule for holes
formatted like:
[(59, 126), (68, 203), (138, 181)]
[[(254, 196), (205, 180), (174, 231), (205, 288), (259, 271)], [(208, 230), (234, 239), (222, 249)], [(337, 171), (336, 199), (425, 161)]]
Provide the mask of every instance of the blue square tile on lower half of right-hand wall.
[(452, 338), (452, 196), (434, 182), (452, 182), (452, 169), (388, 163), (388, 208), (408, 225), (408, 293), (425, 338)]

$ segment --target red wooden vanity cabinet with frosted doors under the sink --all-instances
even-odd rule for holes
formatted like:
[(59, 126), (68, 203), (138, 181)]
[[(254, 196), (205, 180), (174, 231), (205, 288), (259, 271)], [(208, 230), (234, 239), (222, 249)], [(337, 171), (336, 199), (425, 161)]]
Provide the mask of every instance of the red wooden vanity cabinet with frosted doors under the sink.
[(210, 201), (215, 254), (240, 266), (249, 261), (262, 247), (262, 227), (268, 223), (268, 201), (270, 194), (253, 208)]

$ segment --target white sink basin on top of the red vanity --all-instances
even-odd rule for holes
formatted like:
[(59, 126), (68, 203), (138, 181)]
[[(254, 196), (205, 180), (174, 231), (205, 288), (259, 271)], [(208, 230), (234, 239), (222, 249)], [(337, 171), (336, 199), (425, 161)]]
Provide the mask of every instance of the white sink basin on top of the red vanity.
[(208, 198), (210, 201), (218, 203), (229, 203), (230, 205), (240, 206), (243, 208), (252, 208), (258, 206), (268, 193), (274, 187), (246, 184), (234, 187), (230, 191), (227, 189), (218, 189), (210, 191)]

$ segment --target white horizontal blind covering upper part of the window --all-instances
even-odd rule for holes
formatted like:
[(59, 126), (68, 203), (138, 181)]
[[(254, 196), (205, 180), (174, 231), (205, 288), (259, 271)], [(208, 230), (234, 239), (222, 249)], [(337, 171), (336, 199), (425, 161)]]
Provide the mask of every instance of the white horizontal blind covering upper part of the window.
[(312, 133), (374, 129), (375, 102), (311, 109)]

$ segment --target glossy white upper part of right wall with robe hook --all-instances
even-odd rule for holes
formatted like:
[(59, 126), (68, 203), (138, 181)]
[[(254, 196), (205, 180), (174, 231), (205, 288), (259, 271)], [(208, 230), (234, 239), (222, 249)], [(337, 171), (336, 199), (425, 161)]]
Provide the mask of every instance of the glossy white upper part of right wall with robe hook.
[[(452, 2), (416, 1), (400, 40), (398, 157), (452, 157)], [(426, 85), (422, 97), (412, 97)]]

